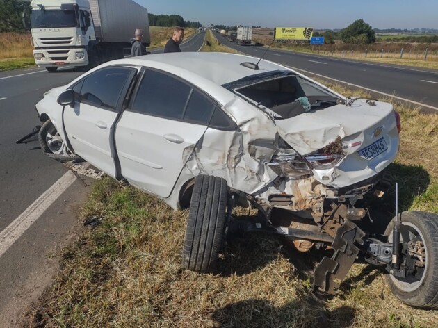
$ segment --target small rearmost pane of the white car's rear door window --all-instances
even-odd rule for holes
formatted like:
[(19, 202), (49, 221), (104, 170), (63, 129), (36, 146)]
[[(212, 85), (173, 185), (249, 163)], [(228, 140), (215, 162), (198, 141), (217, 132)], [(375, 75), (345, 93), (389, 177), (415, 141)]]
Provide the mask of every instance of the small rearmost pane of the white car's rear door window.
[(214, 106), (213, 101), (202, 95), (201, 92), (193, 90), (184, 112), (184, 121), (209, 124)]

